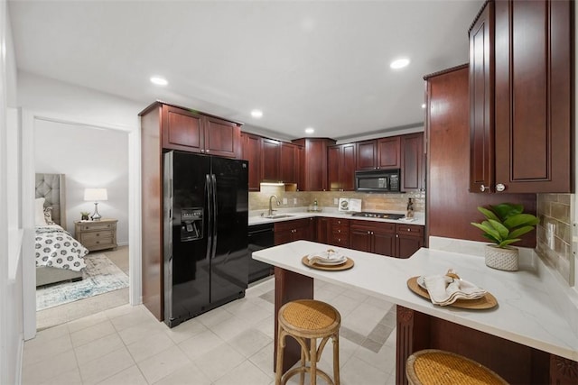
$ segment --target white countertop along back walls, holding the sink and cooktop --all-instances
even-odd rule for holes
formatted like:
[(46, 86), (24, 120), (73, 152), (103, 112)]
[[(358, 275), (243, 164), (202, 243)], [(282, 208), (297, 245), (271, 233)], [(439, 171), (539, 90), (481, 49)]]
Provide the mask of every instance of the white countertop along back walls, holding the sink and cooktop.
[[(340, 212), (337, 209), (327, 209), (323, 208), (323, 211), (319, 212), (308, 212), (305, 208), (295, 208), (295, 209), (282, 209), (276, 210), (275, 214), (282, 214), (282, 215), (291, 215), (286, 216), (284, 218), (266, 218), (261, 216), (261, 213), (265, 213), (266, 215), (267, 210), (258, 210), (258, 211), (250, 211), (249, 212), (249, 225), (261, 225), (261, 224), (271, 224), (275, 222), (283, 222), (283, 221), (292, 221), (294, 219), (302, 219), (302, 218), (311, 218), (312, 216), (322, 216), (322, 217), (330, 217), (330, 218), (343, 218), (343, 219), (355, 219), (360, 221), (373, 221), (373, 222), (389, 222), (389, 223), (396, 223), (396, 224), (406, 224), (406, 225), (425, 225), (425, 217), (424, 213), (415, 213), (415, 217), (412, 219), (379, 219), (379, 218), (366, 218), (362, 216), (352, 216), (351, 213), (347, 212)], [(374, 211), (374, 210), (368, 210)], [(377, 211), (377, 210), (375, 210)], [(394, 214), (405, 214), (405, 212), (399, 211), (387, 211), (388, 213)]]

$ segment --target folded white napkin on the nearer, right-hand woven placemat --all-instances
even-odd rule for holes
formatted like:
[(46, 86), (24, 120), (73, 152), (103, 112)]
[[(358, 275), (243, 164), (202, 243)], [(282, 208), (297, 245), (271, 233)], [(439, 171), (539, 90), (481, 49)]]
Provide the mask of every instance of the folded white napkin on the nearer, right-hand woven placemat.
[(433, 305), (451, 305), (458, 299), (477, 299), (487, 293), (470, 282), (447, 275), (425, 276), (424, 283)]

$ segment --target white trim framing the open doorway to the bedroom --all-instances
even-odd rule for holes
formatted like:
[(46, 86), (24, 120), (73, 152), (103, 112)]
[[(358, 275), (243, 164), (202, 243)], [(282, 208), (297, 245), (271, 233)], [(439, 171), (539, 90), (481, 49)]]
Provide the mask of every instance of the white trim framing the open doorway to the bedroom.
[[(131, 305), (142, 303), (141, 281), (141, 137), (140, 127), (126, 124), (89, 121), (81, 116), (65, 116), (46, 112), (23, 110), (23, 255), (33, 253), (33, 198), (34, 198), (34, 123), (38, 120), (80, 124), (107, 130), (117, 130), (128, 134), (128, 250)], [(28, 261), (30, 260), (30, 261)], [(23, 258), (23, 326), (24, 339), (36, 335), (36, 270), (32, 258)]]

